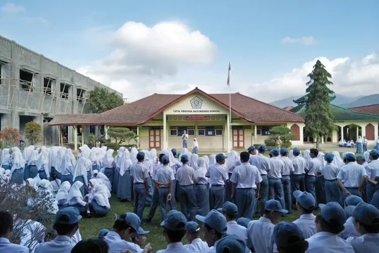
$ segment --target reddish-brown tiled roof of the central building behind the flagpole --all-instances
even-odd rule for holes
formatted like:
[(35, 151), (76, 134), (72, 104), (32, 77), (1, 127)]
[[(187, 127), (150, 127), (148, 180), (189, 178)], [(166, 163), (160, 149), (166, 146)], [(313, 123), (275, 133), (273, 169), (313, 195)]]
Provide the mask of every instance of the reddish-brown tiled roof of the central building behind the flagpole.
[[(229, 94), (206, 94), (196, 88), (184, 95), (153, 94), (100, 114), (57, 115), (49, 124), (142, 124), (194, 93), (200, 93), (215, 103), (229, 109)], [(304, 122), (304, 119), (299, 114), (286, 111), (240, 93), (231, 94), (231, 110), (235, 115), (248, 122)]]

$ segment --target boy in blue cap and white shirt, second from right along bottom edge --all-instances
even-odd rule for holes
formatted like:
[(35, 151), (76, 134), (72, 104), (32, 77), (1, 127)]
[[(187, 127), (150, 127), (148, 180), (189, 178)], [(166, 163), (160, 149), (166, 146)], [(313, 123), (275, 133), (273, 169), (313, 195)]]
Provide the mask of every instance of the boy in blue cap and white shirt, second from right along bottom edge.
[(320, 213), (316, 216), (317, 233), (307, 239), (307, 253), (354, 253), (353, 247), (338, 234), (344, 229), (345, 210), (337, 202), (319, 204)]

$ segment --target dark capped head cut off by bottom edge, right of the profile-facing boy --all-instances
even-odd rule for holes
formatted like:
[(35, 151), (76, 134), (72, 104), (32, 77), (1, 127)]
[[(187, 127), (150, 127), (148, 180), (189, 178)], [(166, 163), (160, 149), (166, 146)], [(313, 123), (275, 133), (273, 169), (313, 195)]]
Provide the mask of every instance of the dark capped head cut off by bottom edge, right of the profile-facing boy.
[(308, 249), (303, 231), (292, 222), (276, 224), (273, 235), (279, 253), (305, 253)]

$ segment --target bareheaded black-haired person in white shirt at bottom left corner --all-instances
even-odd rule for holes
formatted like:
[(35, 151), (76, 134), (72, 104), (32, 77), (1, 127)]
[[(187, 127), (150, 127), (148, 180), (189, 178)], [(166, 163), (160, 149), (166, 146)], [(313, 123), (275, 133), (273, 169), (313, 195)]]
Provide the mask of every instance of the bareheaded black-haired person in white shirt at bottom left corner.
[(13, 235), (13, 217), (9, 212), (0, 211), (0, 252), (29, 253), (29, 249), (9, 241)]

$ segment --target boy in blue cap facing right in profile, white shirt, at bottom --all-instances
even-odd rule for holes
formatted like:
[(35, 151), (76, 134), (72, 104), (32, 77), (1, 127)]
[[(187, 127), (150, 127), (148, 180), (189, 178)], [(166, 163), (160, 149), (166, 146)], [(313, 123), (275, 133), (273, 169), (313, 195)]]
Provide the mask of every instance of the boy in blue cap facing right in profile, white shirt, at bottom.
[(282, 209), (280, 202), (275, 199), (270, 199), (265, 203), (263, 216), (257, 221), (251, 221), (248, 225), (248, 247), (252, 252), (273, 252), (272, 233), (275, 227), (274, 223), (279, 220), (282, 214), (287, 213), (288, 210)]

